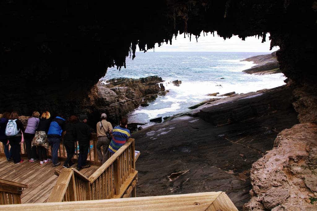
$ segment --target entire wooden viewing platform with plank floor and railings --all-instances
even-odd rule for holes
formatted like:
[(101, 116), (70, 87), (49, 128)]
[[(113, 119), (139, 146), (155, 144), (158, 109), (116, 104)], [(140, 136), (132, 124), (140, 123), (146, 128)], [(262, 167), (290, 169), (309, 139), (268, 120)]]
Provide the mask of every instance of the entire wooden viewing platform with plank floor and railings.
[[(98, 164), (96, 140), (92, 143), (88, 160)], [(62, 149), (60, 160), (65, 159)], [(14, 164), (3, 155), (0, 150), (0, 210), (237, 211), (224, 192), (136, 197), (135, 161), (139, 153), (135, 156), (134, 139), (129, 139), (103, 165), (92, 165), (80, 172), (74, 168), (52, 167), (51, 163), (39, 165), (39, 161)]]

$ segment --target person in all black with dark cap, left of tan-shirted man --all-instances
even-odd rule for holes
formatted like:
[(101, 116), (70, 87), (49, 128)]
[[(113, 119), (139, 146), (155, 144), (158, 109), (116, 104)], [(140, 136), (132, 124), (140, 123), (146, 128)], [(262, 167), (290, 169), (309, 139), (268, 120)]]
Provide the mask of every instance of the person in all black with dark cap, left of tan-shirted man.
[(86, 124), (87, 119), (87, 115), (81, 115), (79, 123), (76, 124), (76, 135), (79, 145), (77, 170), (90, 167), (90, 165), (86, 164), (91, 139), (91, 129)]

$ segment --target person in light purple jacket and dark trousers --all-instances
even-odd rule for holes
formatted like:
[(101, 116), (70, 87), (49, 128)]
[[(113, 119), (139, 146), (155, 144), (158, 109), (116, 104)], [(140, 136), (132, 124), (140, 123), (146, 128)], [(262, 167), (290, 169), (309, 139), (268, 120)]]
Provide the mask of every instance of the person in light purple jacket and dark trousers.
[(28, 124), (24, 131), (25, 148), (26, 154), (29, 158), (29, 162), (34, 162), (37, 160), (36, 146), (32, 146), (32, 140), (35, 136), (35, 131), (40, 122), (39, 117), (39, 112), (33, 112), (32, 117), (28, 119)]

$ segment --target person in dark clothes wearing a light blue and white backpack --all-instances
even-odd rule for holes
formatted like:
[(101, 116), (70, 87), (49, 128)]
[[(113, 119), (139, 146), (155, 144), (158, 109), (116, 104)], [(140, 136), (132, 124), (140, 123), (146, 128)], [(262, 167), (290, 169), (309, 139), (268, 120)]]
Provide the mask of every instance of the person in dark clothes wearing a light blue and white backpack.
[(20, 148), (21, 144), (24, 141), (24, 126), (21, 120), (19, 120), (18, 118), (18, 113), (16, 111), (12, 112), (5, 128), (5, 135), (8, 137), (9, 144), (12, 148), (13, 162), (16, 164), (23, 162), (20, 155)]

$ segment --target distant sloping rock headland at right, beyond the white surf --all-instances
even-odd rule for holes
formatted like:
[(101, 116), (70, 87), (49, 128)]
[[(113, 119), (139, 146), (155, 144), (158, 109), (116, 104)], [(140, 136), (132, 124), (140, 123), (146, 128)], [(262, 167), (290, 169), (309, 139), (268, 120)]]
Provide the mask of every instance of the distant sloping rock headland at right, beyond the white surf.
[(265, 55), (258, 55), (250, 58), (243, 59), (241, 61), (254, 62), (256, 65), (244, 70), (248, 74), (255, 75), (267, 75), (281, 73), (279, 62), (276, 58), (276, 52)]

